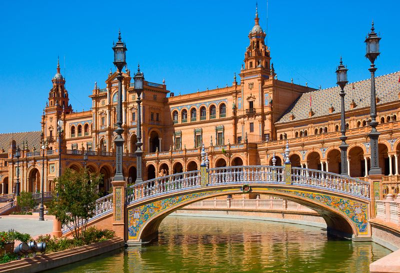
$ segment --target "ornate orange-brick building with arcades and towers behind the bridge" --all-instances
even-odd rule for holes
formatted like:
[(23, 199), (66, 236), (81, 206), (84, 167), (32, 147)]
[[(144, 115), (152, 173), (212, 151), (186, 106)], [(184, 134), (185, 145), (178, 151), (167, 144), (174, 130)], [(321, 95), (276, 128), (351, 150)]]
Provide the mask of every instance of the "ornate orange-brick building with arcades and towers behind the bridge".
[[(240, 80), (234, 74), (230, 86), (174, 95), (164, 81), (144, 82), (141, 116), (145, 179), (197, 169), (201, 143), (205, 144), (210, 167), (272, 164), (273, 154), (279, 165), (283, 162), (286, 139), (293, 166), (340, 173), (339, 87), (313, 89), (278, 80), (264, 42), (266, 33), (258, 20), (256, 13), (254, 26), (248, 33), (244, 65), (238, 74)], [(115, 172), (116, 75), (110, 71), (105, 88), (95, 83), (89, 95), (90, 110), (76, 112), (69, 104), (65, 79), (57, 64), (40, 131), (0, 134), (2, 193), (14, 190), (17, 145), (21, 148), (21, 190), (39, 189), (43, 163), (44, 189), (51, 190), (59, 164), (61, 169), (83, 166), (85, 150), (88, 169), (104, 174), (100, 189), (109, 189)], [(381, 133), (379, 164), (385, 175), (383, 182), (388, 186), (386, 191), (398, 191), (400, 71), (378, 76), (375, 81), (380, 121), (377, 129)], [(136, 177), (137, 113), (133, 85), (126, 69), (122, 80), (123, 173), (131, 182)], [(349, 174), (354, 177), (366, 176), (369, 168), (369, 88), (370, 79), (345, 86), (347, 164)], [(63, 121), (61, 138), (58, 120)]]

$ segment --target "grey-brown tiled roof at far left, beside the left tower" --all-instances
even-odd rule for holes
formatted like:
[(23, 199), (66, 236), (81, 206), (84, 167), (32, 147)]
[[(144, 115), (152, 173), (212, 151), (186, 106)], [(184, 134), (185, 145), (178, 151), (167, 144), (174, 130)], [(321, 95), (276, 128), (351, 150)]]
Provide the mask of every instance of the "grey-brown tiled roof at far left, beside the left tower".
[(4, 149), (4, 152), (7, 152), (12, 140), (15, 140), (20, 148), (22, 148), (22, 141), (28, 141), (30, 150), (32, 150), (33, 146), (39, 149), (41, 142), (40, 131), (0, 133), (0, 153), (1, 148)]

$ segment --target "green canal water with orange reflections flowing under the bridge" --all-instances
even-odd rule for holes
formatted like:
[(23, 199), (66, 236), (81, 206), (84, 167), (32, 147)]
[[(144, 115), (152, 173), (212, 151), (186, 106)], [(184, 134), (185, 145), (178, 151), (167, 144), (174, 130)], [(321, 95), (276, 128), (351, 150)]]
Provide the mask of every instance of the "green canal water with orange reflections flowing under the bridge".
[(319, 227), (248, 219), (167, 216), (158, 241), (51, 272), (369, 272), (391, 251), (326, 237)]

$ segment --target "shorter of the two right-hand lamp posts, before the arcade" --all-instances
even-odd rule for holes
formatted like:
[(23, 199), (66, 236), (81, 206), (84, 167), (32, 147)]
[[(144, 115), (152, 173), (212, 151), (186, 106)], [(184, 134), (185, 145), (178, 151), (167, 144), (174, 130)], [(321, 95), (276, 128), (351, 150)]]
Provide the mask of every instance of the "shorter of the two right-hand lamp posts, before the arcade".
[(337, 66), (336, 69), (336, 77), (337, 77), (337, 84), (340, 86), (340, 97), (341, 97), (341, 107), (340, 107), (340, 132), (341, 136), (339, 137), (341, 140), (340, 148), (340, 163), (341, 163), (341, 174), (348, 175), (347, 170), (347, 148), (348, 145), (346, 144), (346, 123), (345, 123), (345, 113), (344, 113), (344, 86), (347, 84), (347, 68), (343, 65), (343, 61), (341, 60), (340, 56), (340, 64)]

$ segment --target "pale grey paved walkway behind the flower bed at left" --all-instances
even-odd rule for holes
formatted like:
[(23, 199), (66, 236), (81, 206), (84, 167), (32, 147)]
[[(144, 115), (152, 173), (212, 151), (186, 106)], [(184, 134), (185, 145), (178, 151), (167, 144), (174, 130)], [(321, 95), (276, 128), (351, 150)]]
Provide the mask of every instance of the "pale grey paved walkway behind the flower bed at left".
[(53, 228), (53, 216), (44, 216), (44, 221), (38, 220), (36, 215), (2, 215), (0, 216), (0, 231), (14, 229), (31, 236), (49, 234)]

